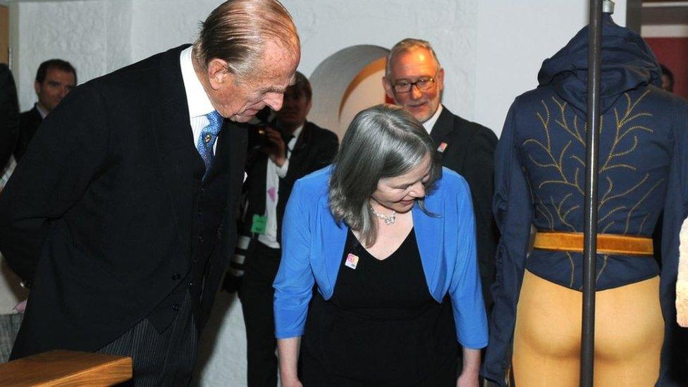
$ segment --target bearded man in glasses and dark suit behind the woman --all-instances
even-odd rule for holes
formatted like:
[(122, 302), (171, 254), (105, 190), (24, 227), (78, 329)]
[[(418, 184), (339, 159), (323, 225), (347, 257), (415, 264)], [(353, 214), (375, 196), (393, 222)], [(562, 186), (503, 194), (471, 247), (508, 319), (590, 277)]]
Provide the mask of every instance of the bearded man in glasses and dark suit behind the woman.
[(395, 44), (387, 56), (382, 82), (395, 104), (412, 113), (430, 133), (443, 166), (453, 169), (468, 182), (476, 221), (480, 279), (489, 311), (498, 240), (492, 217), (497, 137), (492, 130), (456, 116), (441, 104), (444, 70), (429, 42), (404, 39)]

